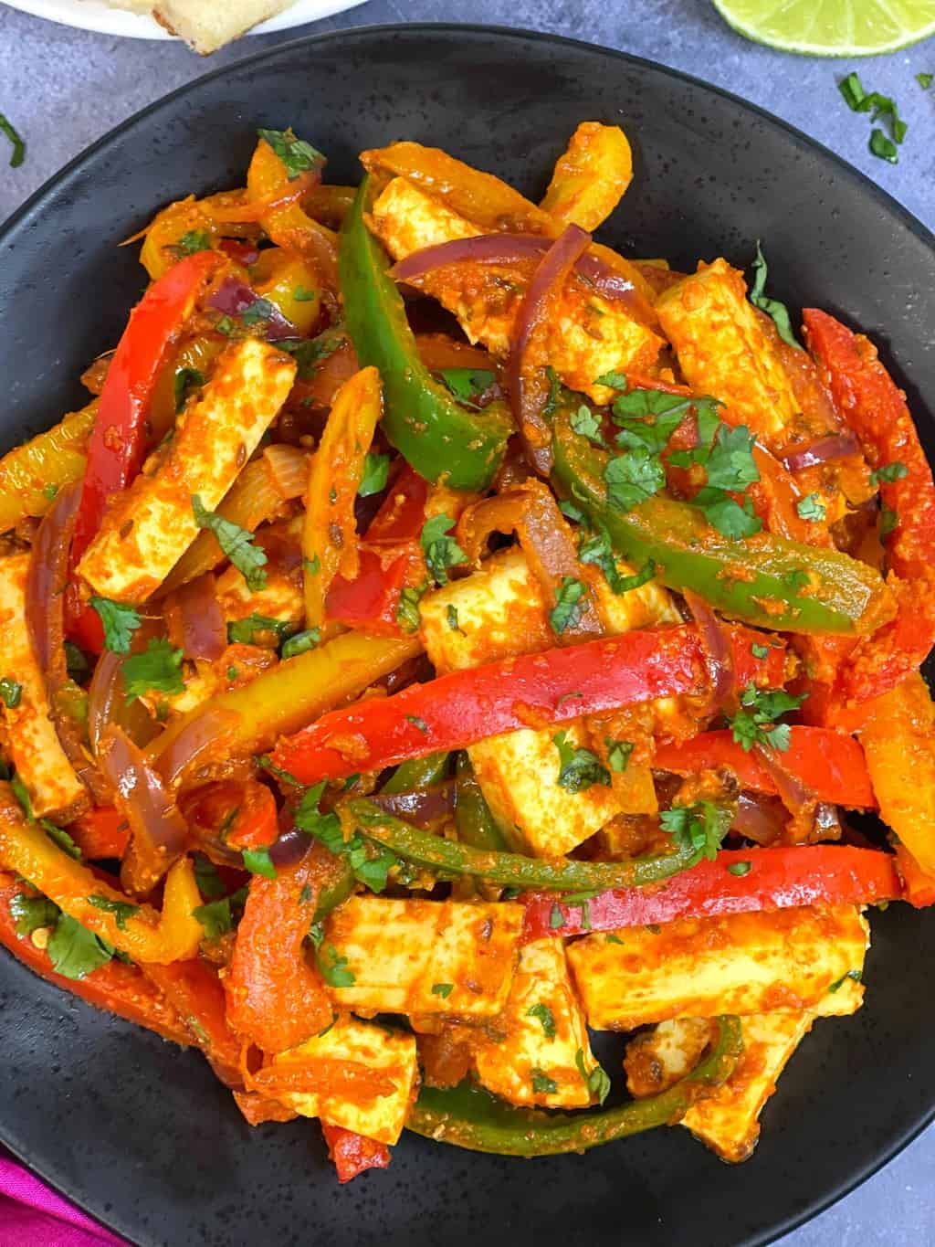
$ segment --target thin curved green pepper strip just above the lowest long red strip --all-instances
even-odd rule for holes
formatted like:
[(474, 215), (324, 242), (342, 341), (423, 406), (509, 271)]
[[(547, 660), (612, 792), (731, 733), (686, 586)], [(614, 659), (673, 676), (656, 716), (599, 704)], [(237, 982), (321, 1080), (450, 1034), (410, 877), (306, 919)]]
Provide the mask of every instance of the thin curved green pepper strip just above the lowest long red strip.
[(658, 857), (628, 862), (575, 862), (570, 858), (530, 858), (445, 840), (385, 813), (364, 798), (335, 807), (345, 835), (360, 831), (396, 857), (446, 875), (472, 875), (507, 888), (546, 892), (591, 892), (605, 888), (640, 888), (671, 879), (701, 860), (691, 844)]

